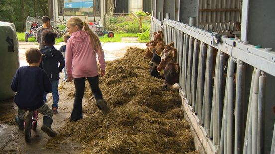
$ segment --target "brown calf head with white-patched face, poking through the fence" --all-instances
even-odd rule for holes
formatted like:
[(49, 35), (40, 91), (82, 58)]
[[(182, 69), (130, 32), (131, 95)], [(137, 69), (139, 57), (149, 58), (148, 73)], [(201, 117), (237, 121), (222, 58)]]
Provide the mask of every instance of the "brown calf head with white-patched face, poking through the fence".
[(173, 48), (173, 45), (174, 43), (172, 42), (164, 47), (164, 50), (160, 54), (161, 61), (157, 67), (157, 71), (161, 72), (168, 62), (176, 62), (177, 49)]

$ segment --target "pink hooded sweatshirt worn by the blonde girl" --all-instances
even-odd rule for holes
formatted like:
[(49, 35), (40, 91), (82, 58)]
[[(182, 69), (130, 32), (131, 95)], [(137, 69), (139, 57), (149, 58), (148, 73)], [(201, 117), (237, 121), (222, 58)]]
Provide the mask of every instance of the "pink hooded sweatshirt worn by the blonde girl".
[(86, 31), (76, 31), (68, 39), (65, 52), (65, 64), (68, 77), (95, 77), (98, 75), (96, 53), (101, 70), (105, 71), (104, 52), (95, 50)]

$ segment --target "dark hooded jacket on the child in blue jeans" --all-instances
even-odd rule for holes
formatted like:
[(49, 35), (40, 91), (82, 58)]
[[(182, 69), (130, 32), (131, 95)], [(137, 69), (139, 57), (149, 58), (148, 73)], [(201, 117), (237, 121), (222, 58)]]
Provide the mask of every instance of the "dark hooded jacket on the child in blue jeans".
[[(59, 79), (59, 72), (65, 66), (63, 55), (54, 46), (46, 46), (40, 50), (43, 54), (40, 68), (44, 69), (51, 81)], [(58, 63), (60, 65), (58, 66)]]

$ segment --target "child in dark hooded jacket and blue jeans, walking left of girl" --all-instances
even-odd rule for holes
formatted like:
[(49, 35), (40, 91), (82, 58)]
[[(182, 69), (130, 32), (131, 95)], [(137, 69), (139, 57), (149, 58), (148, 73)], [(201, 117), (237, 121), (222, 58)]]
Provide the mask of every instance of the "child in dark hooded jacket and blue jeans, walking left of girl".
[[(45, 42), (45, 48), (41, 49), (42, 62), (40, 67), (46, 71), (48, 77), (51, 80), (52, 84), (52, 110), (53, 113), (58, 113), (58, 101), (59, 101), (59, 94), (58, 94), (58, 81), (59, 81), (59, 73), (65, 66), (64, 58), (60, 51), (54, 48), (56, 33), (52, 31), (44, 31), (42, 34)], [(58, 66), (58, 63), (60, 65)], [(47, 102), (47, 93), (44, 93), (44, 101)]]

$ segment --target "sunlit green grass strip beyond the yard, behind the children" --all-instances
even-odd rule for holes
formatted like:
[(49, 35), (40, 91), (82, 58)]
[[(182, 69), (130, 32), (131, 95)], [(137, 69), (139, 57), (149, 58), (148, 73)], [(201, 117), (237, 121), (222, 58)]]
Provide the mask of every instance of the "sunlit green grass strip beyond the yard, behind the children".
[[(24, 32), (17, 32), (18, 41), (25, 41), (25, 33)], [(122, 37), (138, 37), (136, 33), (115, 33), (113, 38), (108, 38), (107, 34), (104, 36), (99, 37), (101, 42), (121, 42)], [(28, 42), (36, 42), (34, 37), (28, 38)], [(55, 39), (55, 43), (63, 42), (63, 38)], [(143, 42), (143, 41), (142, 41)], [(148, 42), (148, 41), (147, 41)]]

